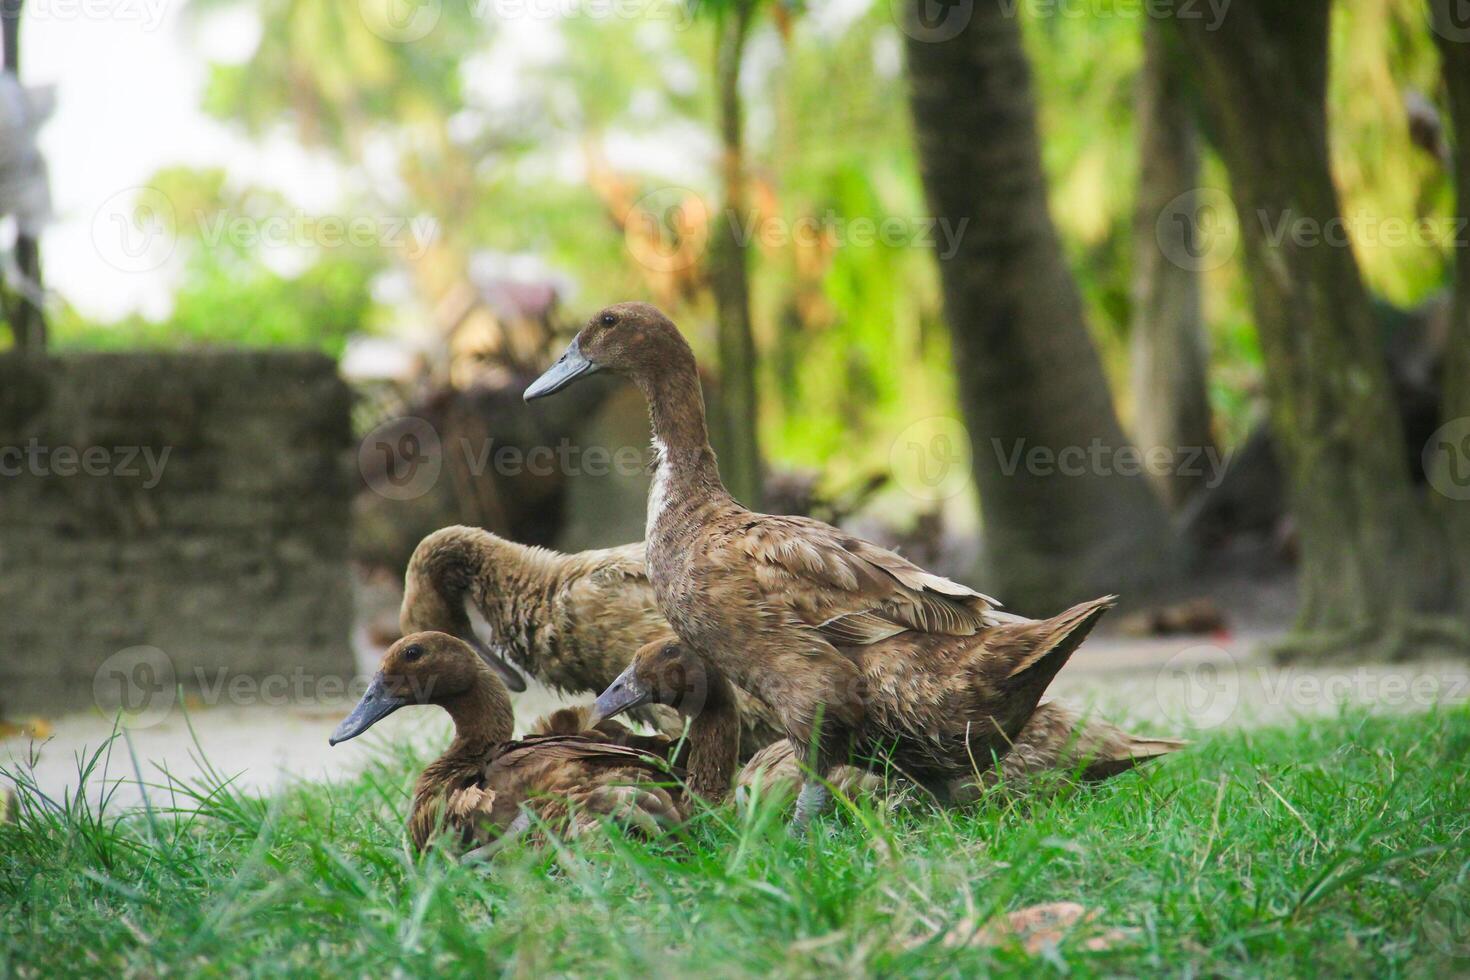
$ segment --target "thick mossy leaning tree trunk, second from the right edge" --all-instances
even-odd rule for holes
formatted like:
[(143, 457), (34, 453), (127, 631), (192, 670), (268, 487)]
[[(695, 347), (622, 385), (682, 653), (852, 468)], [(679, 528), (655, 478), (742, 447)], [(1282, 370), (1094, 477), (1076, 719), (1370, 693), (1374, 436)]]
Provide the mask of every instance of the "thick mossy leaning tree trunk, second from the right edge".
[(1272, 426), (1301, 544), (1283, 657), (1401, 657), (1454, 626), (1442, 551), (1405, 466), (1383, 351), (1327, 154), (1330, 0), (1252, 0), (1207, 29), (1170, 16), (1230, 172)]

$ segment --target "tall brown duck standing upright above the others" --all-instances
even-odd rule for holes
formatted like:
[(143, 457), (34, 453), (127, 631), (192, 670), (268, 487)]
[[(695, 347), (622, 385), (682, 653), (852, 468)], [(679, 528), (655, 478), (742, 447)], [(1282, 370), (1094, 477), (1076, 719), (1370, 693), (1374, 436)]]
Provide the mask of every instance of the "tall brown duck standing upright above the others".
[(654, 467), (645, 561), (679, 641), (770, 705), (806, 770), (803, 832), (833, 770), (897, 768), (933, 792), (1003, 757), (1047, 685), (1116, 597), (1028, 620), (907, 558), (807, 517), (760, 514), (725, 488), (689, 344), (657, 307), (594, 314), (525, 391), (594, 373), (648, 403)]

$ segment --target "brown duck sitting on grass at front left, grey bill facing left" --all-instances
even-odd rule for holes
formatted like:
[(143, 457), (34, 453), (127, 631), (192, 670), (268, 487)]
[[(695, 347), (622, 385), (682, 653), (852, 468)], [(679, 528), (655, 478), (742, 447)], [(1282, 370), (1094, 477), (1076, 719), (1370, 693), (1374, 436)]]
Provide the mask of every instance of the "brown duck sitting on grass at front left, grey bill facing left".
[(462, 848), (494, 845), (526, 830), (531, 814), (569, 836), (603, 818), (644, 833), (681, 818), (662, 758), (601, 732), (513, 741), (504, 682), (478, 651), (447, 633), (412, 633), (390, 646), (331, 743), (354, 739), (410, 704), (440, 705), (454, 720), (454, 741), (413, 788), (409, 836), (419, 851), (440, 835)]

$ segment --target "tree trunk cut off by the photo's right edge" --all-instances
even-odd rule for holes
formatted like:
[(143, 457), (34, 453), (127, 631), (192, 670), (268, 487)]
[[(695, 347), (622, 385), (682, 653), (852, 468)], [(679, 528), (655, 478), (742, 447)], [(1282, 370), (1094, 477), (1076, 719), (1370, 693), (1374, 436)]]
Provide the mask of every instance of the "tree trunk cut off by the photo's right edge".
[[(1455, 213), (1466, 222), (1470, 220), (1470, 21), (1461, 7), (1457, 0), (1430, 0), (1455, 137), (1451, 157)], [(1455, 235), (1455, 287), (1441, 408), (1444, 428), (1424, 447), (1426, 472), (1439, 491), (1436, 502), (1446, 523), (1446, 541), (1452, 542), (1449, 551), (1458, 563), (1461, 616), (1470, 616), (1470, 242), (1466, 235), (1464, 228)]]

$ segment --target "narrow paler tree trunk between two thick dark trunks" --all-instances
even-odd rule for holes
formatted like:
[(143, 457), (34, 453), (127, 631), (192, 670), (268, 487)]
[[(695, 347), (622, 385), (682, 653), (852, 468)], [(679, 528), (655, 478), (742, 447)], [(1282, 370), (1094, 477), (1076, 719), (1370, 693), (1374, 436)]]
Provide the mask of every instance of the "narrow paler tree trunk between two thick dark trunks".
[[(1132, 389), (1133, 436), (1141, 450), (1198, 453), (1214, 447), (1210, 429), (1208, 347), (1200, 298), (1202, 266), (1188, 222), (1200, 190), (1200, 140), (1185, 93), (1177, 41), (1144, 19), (1138, 85), (1138, 206), (1133, 215)], [(1172, 508), (1202, 489), (1202, 466), (1152, 473)]]

